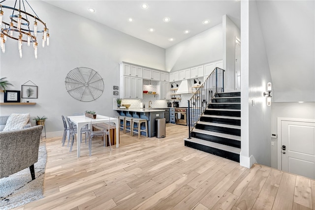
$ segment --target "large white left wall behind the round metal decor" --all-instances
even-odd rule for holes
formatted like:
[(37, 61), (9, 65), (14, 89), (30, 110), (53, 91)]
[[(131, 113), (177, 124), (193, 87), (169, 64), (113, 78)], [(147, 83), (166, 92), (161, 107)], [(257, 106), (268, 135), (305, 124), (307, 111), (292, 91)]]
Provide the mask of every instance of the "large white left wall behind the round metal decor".
[[(1, 106), (0, 115), (10, 115), (13, 112), (31, 113), (31, 118), (46, 115), (47, 137), (62, 134), (61, 115), (83, 113), (85, 110), (95, 110), (96, 113), (108, 116), (116, 115), (112, 110), (113, 86), (119, 86), (120, 61), (161, 70), (165, 68), (163, 48), (42, 1), (34, 1), (32, 7), (49, 28), (50, 46), (42, 49), (39, 41), (38, 59), (35, 60), (32, 47), (25, 45), (23, 58), (20, 59), (17, 41), (7, 40), (6, 52), (1, 53), (0, 57), (0, 77), (7, 77), (14, 85), (8, 90), (21, 90), (22, 84), (32, 80), (38, 86), (38, 99), (30, 101), (37, 104)], [(95, 101), (75, 100), (65, 89), (67, 73), (81, 66), (94, 69), (104, 80), (104, 91)], [(2, 92), (0, 101), (3, 102)]]

